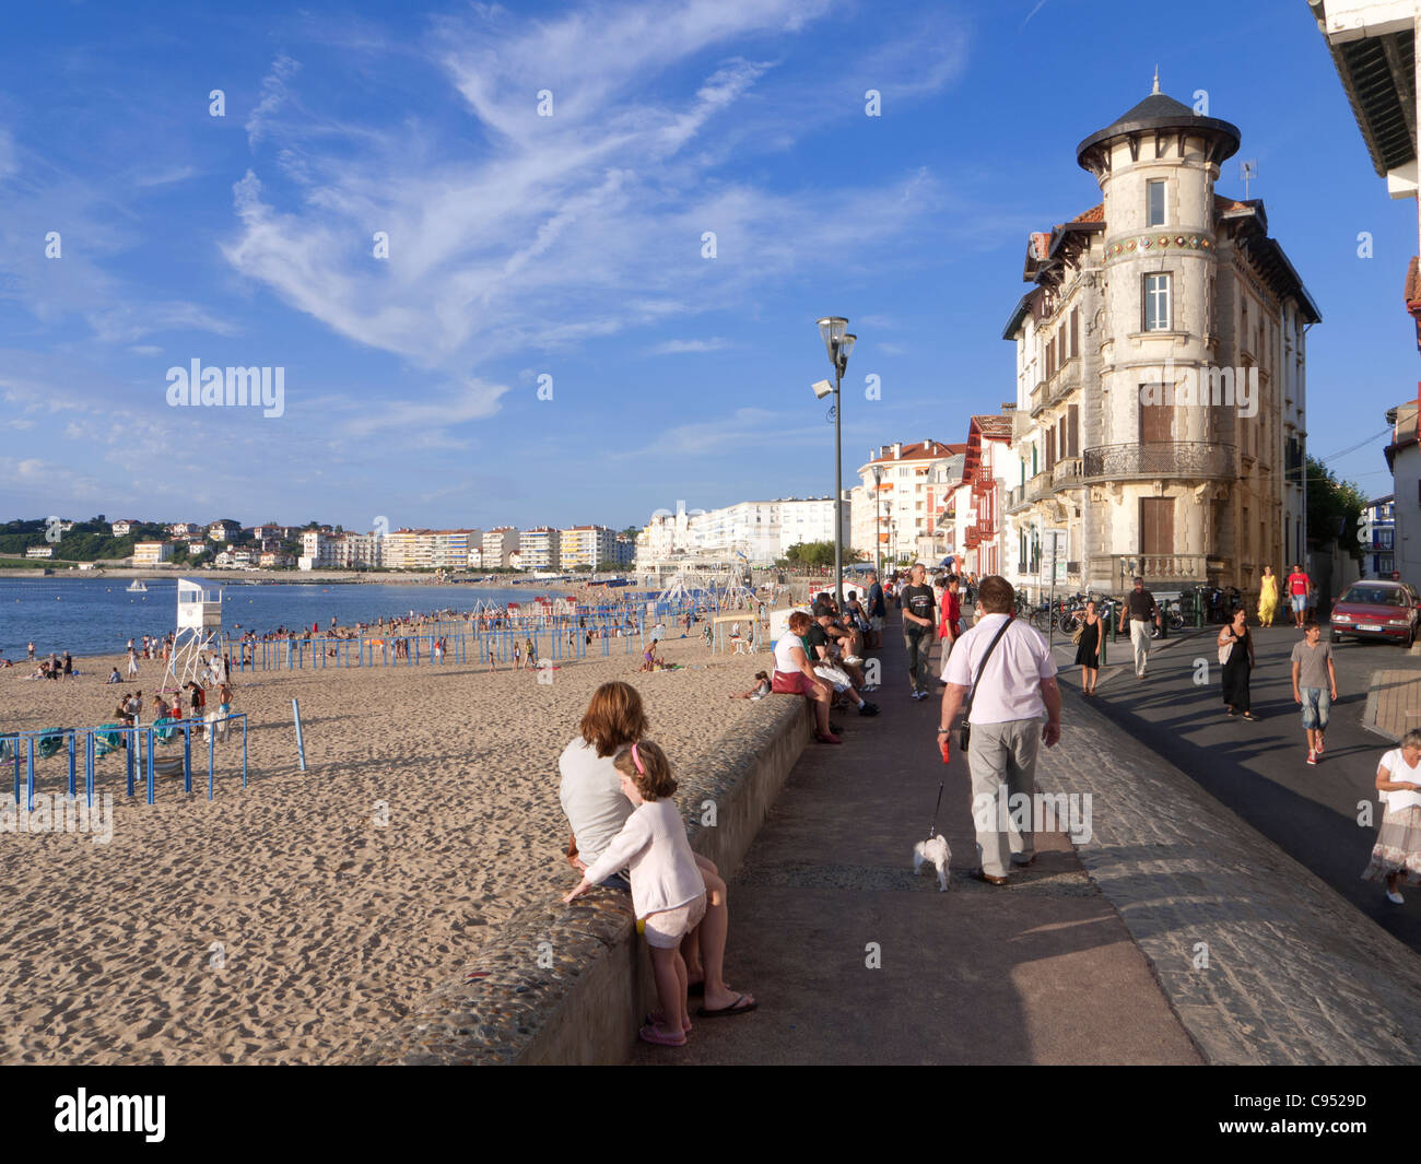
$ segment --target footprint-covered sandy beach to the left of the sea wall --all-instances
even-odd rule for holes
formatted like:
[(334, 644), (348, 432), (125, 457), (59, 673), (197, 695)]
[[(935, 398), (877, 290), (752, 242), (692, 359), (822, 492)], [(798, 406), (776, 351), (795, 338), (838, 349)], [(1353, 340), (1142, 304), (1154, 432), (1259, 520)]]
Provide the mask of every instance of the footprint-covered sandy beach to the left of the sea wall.
[[(598, 684), (637, 685), (691, 794), (698, 755), (760, 706), (728, 695), (767, 655), (710, 655), (699, 637), (661, 652), (692, 669), (638, 675), (639, 655), (614, 654), (549, 685), (453, 664), (234, 677), (234, 711), (250, 716), (244, 792), (234, 743), (219, 745), (210, 803), (206, 745), (193, 749), (193, 794), (159, 780), (153, 806), (141, 787), (124, 794), (115, 753), (97, 789), (114, 797), (111, 843), (0, 833), (0, 1060), (354, 1059), (476, 961), (514, 908), (574, 883), (557, 756)], [(108, 722), (129, 689), (104, 684), (115, 664), (84, 659), (68, 682), (0, 672), (0, 726)], [(151, 692), (161, 675), (145, 661), (132, 686)], [(43, 760), (37, 792), (61, 792), (64, 773), (63, 755)]]

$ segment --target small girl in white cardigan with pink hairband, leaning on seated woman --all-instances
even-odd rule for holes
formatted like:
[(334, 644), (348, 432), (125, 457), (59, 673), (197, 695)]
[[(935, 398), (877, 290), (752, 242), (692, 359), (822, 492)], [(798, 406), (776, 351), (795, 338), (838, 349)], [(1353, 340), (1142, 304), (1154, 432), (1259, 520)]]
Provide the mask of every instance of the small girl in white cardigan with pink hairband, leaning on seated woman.
[(641, 1038), (679, 1047), (691, 1030), (681, 939), (705, 917), (706, 887), (686, 840), (686, 826), (671, 800), (676, 782), (666, 753), (655, 743), (634, 743), (617, 756), (615, 765), (622, 793), (637, 809), (563, 901), (587, 893), (620, 868), (631, 868), (631, 904), (645, 927), (661, 998), (661, 1020), (647, 1023)]

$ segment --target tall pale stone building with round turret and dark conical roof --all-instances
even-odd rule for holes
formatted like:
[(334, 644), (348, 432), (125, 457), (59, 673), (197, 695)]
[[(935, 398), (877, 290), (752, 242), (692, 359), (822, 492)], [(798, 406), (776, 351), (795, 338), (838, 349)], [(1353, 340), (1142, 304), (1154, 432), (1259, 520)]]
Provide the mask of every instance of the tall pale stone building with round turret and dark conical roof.
[[(1306, 331), (1319, 313), (1259, 199), (1215, 192), (1239, 131), (1154, 92), (1086, 138), (1101, 202), (1027, 242), (1003, 503), (1007, 577), (1258, 590), (1306, 546)], [(1015, 568), (1013, 568), (1015, 567)]]

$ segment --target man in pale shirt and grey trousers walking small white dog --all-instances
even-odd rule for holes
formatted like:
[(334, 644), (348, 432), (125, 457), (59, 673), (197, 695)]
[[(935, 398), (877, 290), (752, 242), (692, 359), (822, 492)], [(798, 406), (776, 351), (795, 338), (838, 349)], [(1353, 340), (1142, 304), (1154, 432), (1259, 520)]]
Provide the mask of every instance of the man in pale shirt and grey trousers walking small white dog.
[[(1036, 860), (1032, 834), (1036, 753), (1039, 740), (1052, 748), (1061, 736), (1061, 695), (1056, 685), (1056, 662), (1046, 640), (1026, 623), (1012, 618), (1010, 613), (1016, 605), (1012, 584), (995, 574), (983, 578), (978, 604), (982, 615), (956, 641), (948, 657), (942, 677), (946, 688), (942, 692), (938, 736), (951, 736), (958, 711), (980, 668), (982, 675), (976, 679), (968, 716), (971, 743), (966, 758), (972, 772), (972, 816), (982, 858), (982, 868), (973, 877), (1005, 885), (1009, 867), (1025, 868)], [(1006, 630), (988, 658), (992, 640), (1003, 624)], [(1025, 807), (1023, 802), (1013, 803), (1017, 796), (1027, 797)], [(986, 819), (988, 802), (990, 820)]]

